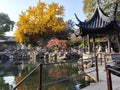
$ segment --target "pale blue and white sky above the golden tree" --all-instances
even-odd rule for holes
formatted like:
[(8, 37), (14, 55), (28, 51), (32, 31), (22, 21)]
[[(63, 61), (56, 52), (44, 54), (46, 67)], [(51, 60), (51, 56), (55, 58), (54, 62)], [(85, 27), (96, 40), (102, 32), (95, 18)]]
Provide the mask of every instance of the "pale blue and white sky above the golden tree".
[[(64, 6), (64, 21), (71, 19), (78, 23), (74, 13), (77, 14), (80, 20), (85, 20), (83, 13), (83, 0), (41, 0), (46, 4), (56, 2)], [(21, 11), (25, 11), (29, 6), (36, 6), (38, 0), (0, 0), (0, 12), (9, 15), (10, 19), (17, 22)], [(10, 34), (10, 33), (9, 33)]]

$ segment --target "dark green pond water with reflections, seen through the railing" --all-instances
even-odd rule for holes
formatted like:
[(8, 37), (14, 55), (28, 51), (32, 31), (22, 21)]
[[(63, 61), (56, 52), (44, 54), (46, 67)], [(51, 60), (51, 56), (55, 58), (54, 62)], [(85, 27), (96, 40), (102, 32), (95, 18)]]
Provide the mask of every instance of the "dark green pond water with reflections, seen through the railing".
[[(0, 88), (3, 90), (10, 90), (10, 88), (14, 87), (22, 78), (33, 70), (34, 67), (35, 65), (24, 63), (24, 66), (11, 65), (10, 68), (1, 69), (5, 74), (0, 76), (0, 81), (2, 81), (0, 82)], [(42, 90), (76, 90), (75, 88), (77, 86), (83, 88), (89, 85), (89, 83), (85, 81), (84, 76), (70, 78), (78, 75), (78, 71), (77, 61), (65, 64), (44, 65), (42, 70)], [(39, 75), (38, 69), (22, 83), (17, 90), (36, 90), (39, 87)], [(60, 80), (61, 82), (59, 82)], [(55, 81), (56, 83), (51, 84)]]

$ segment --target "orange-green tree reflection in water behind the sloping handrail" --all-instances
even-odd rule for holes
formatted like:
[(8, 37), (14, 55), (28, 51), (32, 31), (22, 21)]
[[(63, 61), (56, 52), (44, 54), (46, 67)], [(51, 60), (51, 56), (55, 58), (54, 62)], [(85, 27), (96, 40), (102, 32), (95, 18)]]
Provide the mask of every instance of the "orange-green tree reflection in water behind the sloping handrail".
[[(21, 73), (15, 77), (15, 84), (20, 82), (23, 77), (25, 77), (33, 67), (26, 67)], [(33, 73), (23, 84), (21, 84), (17, 90), (35, 90), (38, 88), (38, 74), (37, 72)]]

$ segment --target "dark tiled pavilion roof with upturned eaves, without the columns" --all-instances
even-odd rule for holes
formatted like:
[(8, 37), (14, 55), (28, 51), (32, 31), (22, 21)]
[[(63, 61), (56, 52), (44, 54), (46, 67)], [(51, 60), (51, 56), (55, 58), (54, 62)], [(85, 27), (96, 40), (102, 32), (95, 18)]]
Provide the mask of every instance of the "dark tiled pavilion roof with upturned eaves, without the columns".
[(75, 14), (79, 24), (80, 33), (82, 36), (87, 34), (105, 34), (118, 32), (120, 30), (120, 22), (115, 20), (115, 14), (112, 16), (106, 15), (98, 5), (93, 16), (89, 21), (82, 22)]

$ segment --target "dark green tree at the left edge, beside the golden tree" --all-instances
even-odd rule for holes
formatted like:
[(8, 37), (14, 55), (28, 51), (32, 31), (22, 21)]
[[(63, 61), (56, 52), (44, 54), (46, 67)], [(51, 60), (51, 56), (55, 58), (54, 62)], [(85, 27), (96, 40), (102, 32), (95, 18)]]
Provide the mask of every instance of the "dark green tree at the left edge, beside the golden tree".
[(10, 20), (9, 16), (5, 13), (0, 13), (0, 38), (2, 38), (7, 31), (13, 29), (15, 22)]

